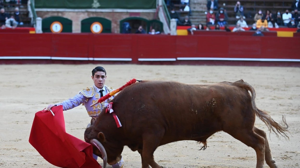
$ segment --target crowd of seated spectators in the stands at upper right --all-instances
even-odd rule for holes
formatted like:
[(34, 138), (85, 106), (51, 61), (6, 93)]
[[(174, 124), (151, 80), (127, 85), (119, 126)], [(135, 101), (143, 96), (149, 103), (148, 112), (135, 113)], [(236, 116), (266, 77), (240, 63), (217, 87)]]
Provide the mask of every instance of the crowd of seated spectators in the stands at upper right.
[[(186, 4), (189, 5), (188, 1)], [(223, 6), (225, 6), (223, 4)], [(251, 16), (246, 11), (244, 11), (244, 6), (241, 2), (237, 1), (235, 3), (234, 8), (232, 9), (224, 9), (223, 7), (219, 7), (218, 0), (207, 0), (206, 4), (207, 11), (206, 14), (206, 28), (203, 25), (200, 26), (200, 29), (209, 30), (211, 26), (214, 26), (215, 30), (224, 29), (226, 27), (226, 31), (228, 31), (228, 14), (226, 10), (231, 10), (235, 14), (235, 18), (238, 19), (235, 23), (234, 31), (245, 31), (244, 28), (250, 27), (249, 30), (256, 31), (256, 35), (260, 35), (262, 31), (268, 31), (268, 28), (279, 28), (280, 27), (289, 27), (289, 28), (298, 28), (300, 29), (300, 3), (299, 0), (294, 0), (292, 2), (292, 6), (290, 9), (286, 9), (286, 11), (276, 11), (276, 13), (272, 13), (271, 10), (263, 10), (259, 9), (257, 13)], [(247, 6), (246, 6), (247, 8)], [(289, 11), (292, 10), (292, 11)], [(249, 15), (249, 16), (248, 16)], [(180, 26), (191, 26), (188, 29), (191, 34), (193, 34), (194, 30), (199, 30), (199, 24), (192, 24), (189, 21), (188, 16), (184, 17), (184, 20), (180, 20), (180, 14), (178, 14), (174, 8), (170, 11), (171, 18), (176, 19), (177, 24)], [(246, 22), (247, 19), (247, 23)], [(250, 19), (253, 21), (250, 21)]]

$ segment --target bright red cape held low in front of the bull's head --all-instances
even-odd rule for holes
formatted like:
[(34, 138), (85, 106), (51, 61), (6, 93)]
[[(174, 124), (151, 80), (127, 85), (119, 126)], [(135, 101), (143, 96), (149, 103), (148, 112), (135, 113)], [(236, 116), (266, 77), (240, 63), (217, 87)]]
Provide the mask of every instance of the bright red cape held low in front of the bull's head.
[(58, 167), (101, 167), (93, 158), (91, 144), (66, 133), (62, 105), (51, 110), (55, 116), (50, 111), (35, 113), (29, 143), (49, 163)]

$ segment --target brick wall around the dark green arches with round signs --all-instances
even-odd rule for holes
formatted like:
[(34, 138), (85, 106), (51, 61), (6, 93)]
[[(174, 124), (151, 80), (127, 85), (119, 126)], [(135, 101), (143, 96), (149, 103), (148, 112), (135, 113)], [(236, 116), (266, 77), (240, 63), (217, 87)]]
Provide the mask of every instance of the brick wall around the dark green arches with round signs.
[(154, 12), (58, 12), (58, 11), (37, 11), (38, 17), (42, 19), (51, 16), (65, 17), (73, 21), (72, 32), (79, 33), (81, 29), (81, 20), (88, 17), (104, 17), (112, 21), (112, 33), (120, 32), (120, 20), (128, 17), (142, 17), (152, 20), (155, 16)]

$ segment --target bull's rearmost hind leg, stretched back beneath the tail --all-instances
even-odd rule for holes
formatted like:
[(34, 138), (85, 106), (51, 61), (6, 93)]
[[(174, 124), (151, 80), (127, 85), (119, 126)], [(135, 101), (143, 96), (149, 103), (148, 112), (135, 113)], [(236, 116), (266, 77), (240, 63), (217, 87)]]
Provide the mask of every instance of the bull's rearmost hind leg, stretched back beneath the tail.
[(272, 157), (271, 150), (269, 147), (269, 142), (267, 139), (267, 135), (265, 134), (265, 131), (259, 130), (258, 128), (253, 128), (254, 132), (258, 135), (262, 136), (265, 139), (265, 162), (270, 166), (270, 168), (277, 168), (275, 160)]

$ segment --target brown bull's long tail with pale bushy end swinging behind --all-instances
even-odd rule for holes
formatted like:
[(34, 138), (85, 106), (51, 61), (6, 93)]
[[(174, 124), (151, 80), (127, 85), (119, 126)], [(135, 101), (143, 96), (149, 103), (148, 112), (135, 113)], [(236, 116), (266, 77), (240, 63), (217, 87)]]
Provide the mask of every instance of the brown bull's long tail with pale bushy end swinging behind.
[(237, 81), (237, 83), (239, 87), (245, 88), (251, 92), (251, 103), (253, 109), (255, 110), (256, 116), (265, 123), (269, 131), (270, 132), (273, 131), (278, 138), (279, 138), (278, 134), (280, 134), (285, 139), (289, 139), (289, 137), (286, 135), (286, 133), (289, 133), (289, 125), (286, 123), (285, 116), (282, 115), (283, 125), (278, 124), (276, 121), (273, 120), (273, 118), (271, 118), (268, 112), (260, 110), (256, 107), (254, 101), (256, 96), (254, 88), (247, 82), (244, 82), (243, 80)]

